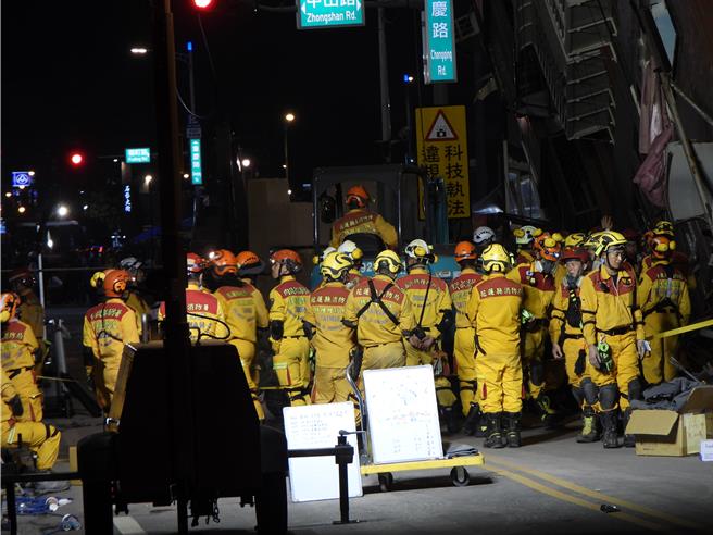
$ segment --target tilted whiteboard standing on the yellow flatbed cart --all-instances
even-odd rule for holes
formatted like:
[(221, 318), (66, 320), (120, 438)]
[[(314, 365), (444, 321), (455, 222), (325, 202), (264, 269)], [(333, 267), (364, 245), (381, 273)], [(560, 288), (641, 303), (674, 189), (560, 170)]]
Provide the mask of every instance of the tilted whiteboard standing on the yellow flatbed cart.
[(364, 389), (375, 464), (443, 457), (430, 365), (365, 370)]

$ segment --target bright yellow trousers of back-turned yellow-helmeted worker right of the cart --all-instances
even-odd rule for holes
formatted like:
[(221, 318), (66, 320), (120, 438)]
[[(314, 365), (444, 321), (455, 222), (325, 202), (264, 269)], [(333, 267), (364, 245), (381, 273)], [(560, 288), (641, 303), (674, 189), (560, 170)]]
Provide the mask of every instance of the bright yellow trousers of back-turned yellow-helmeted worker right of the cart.
[(475, 371), (483, 412), (522, 410), (523, 365), (520, 354), (478, 354)]

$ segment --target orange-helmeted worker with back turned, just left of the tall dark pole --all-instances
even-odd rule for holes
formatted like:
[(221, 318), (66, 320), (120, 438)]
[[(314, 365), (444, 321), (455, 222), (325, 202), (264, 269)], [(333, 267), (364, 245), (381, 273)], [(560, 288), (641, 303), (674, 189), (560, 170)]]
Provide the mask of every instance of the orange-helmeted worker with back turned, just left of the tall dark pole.
[(97, 401), (105, 411), (114, 396), (124, 347), (140, 339), (136, 314), (124, 302), (129, 278), (124, 270), (109, 271), (103, 281), (105, 301), (84, 316), (83, 345), (93, 356)]

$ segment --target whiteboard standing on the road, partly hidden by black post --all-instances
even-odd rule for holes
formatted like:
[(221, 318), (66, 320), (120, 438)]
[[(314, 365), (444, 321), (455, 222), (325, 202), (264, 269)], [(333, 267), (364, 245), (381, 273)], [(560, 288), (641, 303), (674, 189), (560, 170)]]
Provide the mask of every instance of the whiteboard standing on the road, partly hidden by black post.
[[(354, 406), (351, 402), (285, 407), (285, 435), (288, 449), (332, 448), (339, 430), (355, 431)], [(354, 448), (354, 460), (347, 465), (349, 497), (362, 496), (356, 435), (347, 435)], [(297, 457), (289, 459), (289, 481), (292, 501), (315, 501), (339, 498), (339, 465), (334, 456)]]

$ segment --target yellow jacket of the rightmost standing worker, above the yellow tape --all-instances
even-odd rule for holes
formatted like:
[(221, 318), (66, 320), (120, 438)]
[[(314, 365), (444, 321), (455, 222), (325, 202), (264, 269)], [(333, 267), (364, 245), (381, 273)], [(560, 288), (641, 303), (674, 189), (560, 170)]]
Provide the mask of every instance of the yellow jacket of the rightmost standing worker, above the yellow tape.
[(639, 278), (637, 299), (643, 318), (673, 309), (681, 325), (690, 319), (690, 297), (684, 274), (667, 261), (658, 261)]

